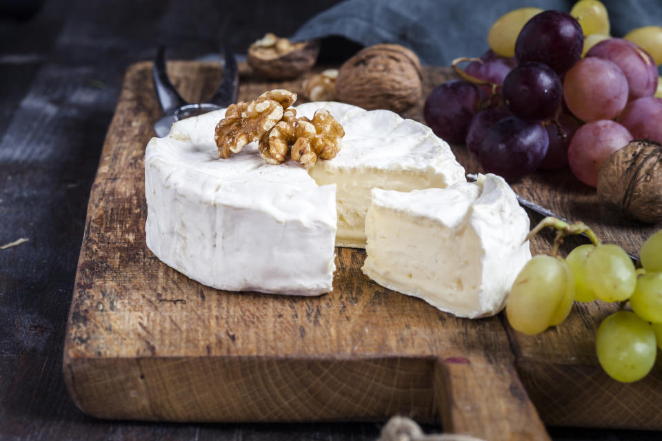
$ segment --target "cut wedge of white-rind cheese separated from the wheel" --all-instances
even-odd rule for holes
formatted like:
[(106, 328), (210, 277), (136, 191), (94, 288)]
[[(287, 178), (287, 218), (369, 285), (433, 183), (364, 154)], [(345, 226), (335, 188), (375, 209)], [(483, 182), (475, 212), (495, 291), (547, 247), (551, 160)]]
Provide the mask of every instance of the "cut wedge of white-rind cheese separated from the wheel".
[(503, 178), (412, 192), (372, 190), (363, 273), (459, 317), (503, 309), (531, 258), (529, 218)]

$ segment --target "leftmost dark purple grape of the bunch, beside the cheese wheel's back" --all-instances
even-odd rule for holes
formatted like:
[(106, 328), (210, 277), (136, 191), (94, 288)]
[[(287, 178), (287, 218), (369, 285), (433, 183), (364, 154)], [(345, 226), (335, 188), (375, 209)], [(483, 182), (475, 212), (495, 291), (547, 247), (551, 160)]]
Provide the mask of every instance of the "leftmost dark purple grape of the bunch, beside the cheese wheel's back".
[(443, 83), (425, 100), (425, 123), (439, 138), (449, 143), (461, 143), (467, 137), (469, 123), (483, 96), (483, 92), (468, 81)]

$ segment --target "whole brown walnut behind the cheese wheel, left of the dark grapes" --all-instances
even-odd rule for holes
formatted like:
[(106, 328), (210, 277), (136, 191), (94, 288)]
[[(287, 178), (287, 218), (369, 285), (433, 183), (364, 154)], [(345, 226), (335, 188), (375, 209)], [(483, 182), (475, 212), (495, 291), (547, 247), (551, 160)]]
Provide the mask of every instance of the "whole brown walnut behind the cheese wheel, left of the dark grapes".
[(338, 99), (367, 110), (402, 112), (421, 98), (421, 63), (414, 52), (397, 44), (365, 48), (341, 66)]

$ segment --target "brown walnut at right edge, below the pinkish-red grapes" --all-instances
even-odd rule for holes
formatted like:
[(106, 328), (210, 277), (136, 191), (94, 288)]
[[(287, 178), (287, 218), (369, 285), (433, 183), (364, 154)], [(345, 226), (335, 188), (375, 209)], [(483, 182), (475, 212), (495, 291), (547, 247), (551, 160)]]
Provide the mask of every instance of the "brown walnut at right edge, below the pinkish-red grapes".
[(662, 220), (662, 145), (634, 140), (616, 150), (600, 167), (598, 197), (626, 218)]

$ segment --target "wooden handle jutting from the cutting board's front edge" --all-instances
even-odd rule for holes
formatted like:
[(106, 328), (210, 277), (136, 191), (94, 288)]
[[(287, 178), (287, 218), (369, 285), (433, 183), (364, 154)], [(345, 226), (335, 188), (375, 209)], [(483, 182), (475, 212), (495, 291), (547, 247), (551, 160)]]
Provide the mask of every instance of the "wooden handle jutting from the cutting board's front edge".
[(439, 358), (434, 397), (445, 432), (489, 441), (551, 440), (512, 360)]

